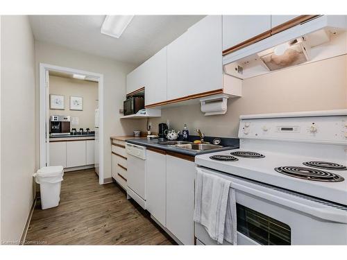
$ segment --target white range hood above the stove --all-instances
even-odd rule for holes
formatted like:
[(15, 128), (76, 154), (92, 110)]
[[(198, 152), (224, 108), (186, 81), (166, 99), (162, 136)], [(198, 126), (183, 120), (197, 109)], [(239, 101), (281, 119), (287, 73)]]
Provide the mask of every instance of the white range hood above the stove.
[(223, 57), (224, 72), (251, 78), (347, 53), (347, 20), (323, 15)]

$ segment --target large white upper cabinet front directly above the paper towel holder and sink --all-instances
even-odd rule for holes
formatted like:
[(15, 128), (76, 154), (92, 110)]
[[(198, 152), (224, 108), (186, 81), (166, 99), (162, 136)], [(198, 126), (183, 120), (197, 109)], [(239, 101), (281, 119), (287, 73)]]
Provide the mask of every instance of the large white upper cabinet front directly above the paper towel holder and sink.
[(167, 46), (167, 99), (222, 88), (221, 16), (209, 15)]

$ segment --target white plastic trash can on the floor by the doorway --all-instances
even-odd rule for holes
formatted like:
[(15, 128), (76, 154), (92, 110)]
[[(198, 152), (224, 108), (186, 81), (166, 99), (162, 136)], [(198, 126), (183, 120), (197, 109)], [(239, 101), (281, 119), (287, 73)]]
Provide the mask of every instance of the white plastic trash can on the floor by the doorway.
[(34, 174), (36, 183), (40, 184), (42, 209), (59, 205), (62, 175), (64, 175), (62, 166), (43, 167)]

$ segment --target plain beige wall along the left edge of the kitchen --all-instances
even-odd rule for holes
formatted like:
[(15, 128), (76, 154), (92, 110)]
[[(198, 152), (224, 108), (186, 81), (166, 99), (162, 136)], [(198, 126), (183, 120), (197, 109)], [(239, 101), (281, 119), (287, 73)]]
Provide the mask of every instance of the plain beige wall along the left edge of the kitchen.
[(19, 241), (33, 204), (34, 39), (27, 16), (1, 17), (1, 241)]

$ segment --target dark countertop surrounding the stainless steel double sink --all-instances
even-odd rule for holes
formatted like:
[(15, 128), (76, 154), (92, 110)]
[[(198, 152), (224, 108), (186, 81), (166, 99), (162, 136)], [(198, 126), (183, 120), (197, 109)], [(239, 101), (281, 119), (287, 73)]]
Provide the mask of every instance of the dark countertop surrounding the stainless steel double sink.
[(239, 139), (237, 138), (228, 138), (228, 146), (224, 146), (222, 148), (217, 148), (217, 149), (212, 149), (212, 150), (202, 150), (202, 151), (197, 151), (197, 150), (189, 150), (189, 149), (184, 149), (184, 148), (178, 148), (175, 146), (167, 146), (163, 144), (158, 144), (162, 141), (167, 141), (166, 139), (147, 139), (147, 138), (133, 138), (133, 139), (126, 139), (127, 143), (130, 144), (137, 144), (139, 146), (146, 146), (146, 147), (151, 147), (151, 148), (156, 148), (160, 150), (166, 150), (169, 152), (174, 152), (174, 153), (180, 153), (183, 155), (189, 155), (192, 157), (195, 157), (196, 155), (202, 155), (205, 153), (216, 153), (221, 150), (230, 150), (230, 149), (236, 149), (239, 148)]

